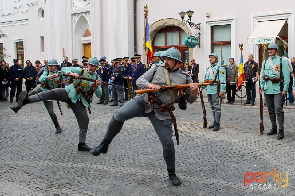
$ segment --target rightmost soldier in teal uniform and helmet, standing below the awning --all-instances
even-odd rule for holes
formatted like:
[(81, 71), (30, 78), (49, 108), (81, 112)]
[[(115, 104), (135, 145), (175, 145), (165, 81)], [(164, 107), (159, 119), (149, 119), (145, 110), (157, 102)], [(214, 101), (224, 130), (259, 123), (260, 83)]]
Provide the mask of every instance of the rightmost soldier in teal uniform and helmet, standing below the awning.
[[(267, 49), (269, 58), (264, 60), (261, 67), (260, 89), (258, 90), (258, 93), (261, 94), (262, 91), (264, 91), (264, 98), (272, 125), (272, 129), (267, 133), (267, 135), (277, 133), (278, 121), (279, 134), (277, 135), (277, 139), (280, 140), (284, 138), (284, 111), (282, 110), (282, 99), (287, 96), (290, 82), (290, 71), (286, 59), (281, 59), (282, 68), (280, 66), (280, 57), (277, 56), (277, 44), (270, 43)], [(280, 75), (280, 72), (282, 75)], [(283, 88), (281, 89), (280, 83), (282, 81)]]

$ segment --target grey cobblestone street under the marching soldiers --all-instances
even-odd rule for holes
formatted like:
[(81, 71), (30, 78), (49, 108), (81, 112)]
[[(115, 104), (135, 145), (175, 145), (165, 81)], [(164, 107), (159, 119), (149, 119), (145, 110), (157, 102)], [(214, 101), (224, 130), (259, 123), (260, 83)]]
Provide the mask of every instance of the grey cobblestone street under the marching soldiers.
[[(206, 95), (204, 95), (206, 96)], [(204, 98), (208, 126), (213, 117)], [(119, 106), (92, 103), (86, 137), (89, 146), (97, 146), (108, 122)], [(264, 106), (263, 135), (259, 135), (259, 99), (256, 105), (222, 104), (221, 129), (203, 129), (200, 99), (187, 110), (176, 106), (174, 112), (180, 145), (176, 145), (176, 174), (180, 186), (168, 179), (162, 146), (148, 118), (125, 122), (107, 154), (92, 156), (77, 150), (79, 128), (71, 110), (61, 103), (62, 133), (55, 134), (53, 123), (42, 102), (28, 104), (17, 114), (0, 102), (0, 195), (2, 196), (82, 196), (82, 195), (285, 195), (295, 192), (294, 106), (284, 106), (285, 138), (267, 136), (271, 129)], [(268, 175), (266, 182), (248, 182), (246, 172), (275, 169), (281, 178), (289, 175), (286, 188)], [(258, 175), (257, 179), (262, 176)], [(251, 176), (248, 176), (250, 179)], [(278, 178), (277, 178), (278, 179)], [(285, 182), (281, 181), (282, 185)], [(257, 186), (260, 184), (260, 186)], [(261, 188), (263, 184), (271, 185)], [(254, 186), (256, 185), (256, 186)]]

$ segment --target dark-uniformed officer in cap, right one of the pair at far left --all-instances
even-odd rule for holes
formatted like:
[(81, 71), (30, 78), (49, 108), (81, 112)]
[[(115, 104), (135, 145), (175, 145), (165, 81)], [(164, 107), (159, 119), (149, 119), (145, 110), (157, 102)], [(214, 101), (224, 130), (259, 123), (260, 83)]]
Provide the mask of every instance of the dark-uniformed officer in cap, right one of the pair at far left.
[(26, 91), (29, 92), (30, 90), (33, 90), (36, 88), (36, 77), (38, 75), (37, 69), (32, 66), (32, 63), (30, 60), (26, 61), (27, 67), (24, 68), (24, 79), (25, 85), (26, 85)]

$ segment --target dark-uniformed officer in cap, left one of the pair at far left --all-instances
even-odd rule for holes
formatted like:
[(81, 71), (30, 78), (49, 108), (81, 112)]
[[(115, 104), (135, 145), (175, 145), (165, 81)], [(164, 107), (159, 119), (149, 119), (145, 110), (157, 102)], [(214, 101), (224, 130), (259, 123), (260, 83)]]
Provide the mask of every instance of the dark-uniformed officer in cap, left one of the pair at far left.
[(9, 77), (11, 78), (10, 85), (10, 103), (13, 102), (13, 98), (15, 95), (16, 88), (16, 101), (18, 101), (18, 95), (22, 92), (22, 77), (23, 77), (23, 69), (22, 66), (18, 64), (18, 60), (13, 60), (14, 65), (9, 69)]

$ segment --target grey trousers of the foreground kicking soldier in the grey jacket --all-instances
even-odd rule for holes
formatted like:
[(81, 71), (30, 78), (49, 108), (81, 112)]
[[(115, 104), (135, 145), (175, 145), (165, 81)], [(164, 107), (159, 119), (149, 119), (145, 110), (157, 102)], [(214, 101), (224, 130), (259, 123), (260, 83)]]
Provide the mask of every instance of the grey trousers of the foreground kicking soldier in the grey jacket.
[[(123, 122), (135, 117), (148, 117), (157, 133), (163, 148), (163, 157), (167, 165), (167, 169), (175, 168), (175, 149), (172, 140), (172, 121), (171, 119), (160, 120), (155, 116), (154, 110), (150, 113), (145, 113), (145, 101), (142, 96), (136, 96), (129, 100), (120, 110), (116, 111), (113, 118), (116, 121)], [(120, 130), (108, 130), (111, 132), (119, 133)], [(109, 138), (111, 133), (104, 136), (105, 139), (112, 141)], [(112, 135), (114, 137), (114, 135)]]

